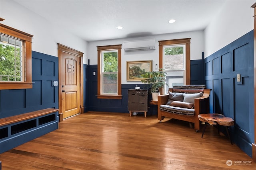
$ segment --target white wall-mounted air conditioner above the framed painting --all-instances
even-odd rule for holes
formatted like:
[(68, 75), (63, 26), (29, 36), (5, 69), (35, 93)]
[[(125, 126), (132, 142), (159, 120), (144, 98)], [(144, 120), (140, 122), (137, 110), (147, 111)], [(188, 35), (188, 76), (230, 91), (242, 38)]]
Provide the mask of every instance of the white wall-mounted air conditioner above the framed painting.
[(124, 41), (122, 48), (124, 51), (140, 51), (156, 49), (156, 39), (144, 39), (138, 41)]

